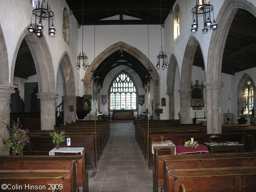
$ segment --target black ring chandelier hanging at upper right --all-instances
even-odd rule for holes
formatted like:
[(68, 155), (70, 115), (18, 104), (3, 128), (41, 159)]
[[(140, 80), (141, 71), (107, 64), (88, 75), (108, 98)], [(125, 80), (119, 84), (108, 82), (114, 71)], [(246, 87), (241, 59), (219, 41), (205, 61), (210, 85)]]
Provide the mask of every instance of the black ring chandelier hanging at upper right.
[[(193, 13), (191, 32), (196, 32), (198, 29), (198, 15), (203, 15), (204, 17), (203, 33), (207, 33), (209, 31), (209, 27), (213, 30), (218, 28), (214, 19), (213, 5), (210, 4), (209, 0), (197, 0), (196, 6), (193, 7), (191, 12)], [(211, 12), (213, 13), (213, 21), (211, 20)]]

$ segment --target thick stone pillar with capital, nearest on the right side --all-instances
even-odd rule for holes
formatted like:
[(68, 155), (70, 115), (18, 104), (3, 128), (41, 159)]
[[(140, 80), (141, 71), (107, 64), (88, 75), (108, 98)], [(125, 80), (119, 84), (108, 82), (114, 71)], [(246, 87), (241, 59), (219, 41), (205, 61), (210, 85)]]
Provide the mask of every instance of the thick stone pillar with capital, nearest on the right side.
[(222, 82), (205, 82), (207, 107), (207, 134), (221, 133), (221, 87)]

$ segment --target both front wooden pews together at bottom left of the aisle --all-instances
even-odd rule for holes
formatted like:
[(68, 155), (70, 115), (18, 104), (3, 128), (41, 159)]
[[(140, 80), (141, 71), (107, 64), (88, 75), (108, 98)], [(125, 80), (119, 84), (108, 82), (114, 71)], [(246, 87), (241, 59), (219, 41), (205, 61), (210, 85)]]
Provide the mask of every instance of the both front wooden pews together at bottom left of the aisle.
[(82, 155), (0, 156), (2, 190), (89, 191), (85, 151)]

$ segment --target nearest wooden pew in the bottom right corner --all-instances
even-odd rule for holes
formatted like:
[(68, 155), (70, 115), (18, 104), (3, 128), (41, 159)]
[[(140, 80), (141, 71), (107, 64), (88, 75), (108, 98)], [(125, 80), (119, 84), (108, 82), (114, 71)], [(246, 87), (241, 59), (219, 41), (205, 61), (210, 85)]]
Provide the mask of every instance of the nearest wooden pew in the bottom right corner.
[(169, 170), (165, 191), (255, 191), (256, 167), (214, 167)]

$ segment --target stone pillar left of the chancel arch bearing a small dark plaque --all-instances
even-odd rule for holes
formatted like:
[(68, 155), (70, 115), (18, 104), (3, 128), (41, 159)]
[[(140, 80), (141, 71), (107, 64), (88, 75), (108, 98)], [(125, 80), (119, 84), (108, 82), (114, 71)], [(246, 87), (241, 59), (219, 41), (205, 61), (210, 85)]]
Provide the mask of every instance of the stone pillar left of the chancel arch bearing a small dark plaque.
[(64, 96), (63, 111), (64, 124), (76, 121), (76, 96)]

